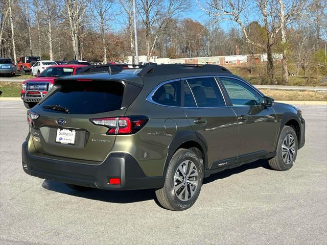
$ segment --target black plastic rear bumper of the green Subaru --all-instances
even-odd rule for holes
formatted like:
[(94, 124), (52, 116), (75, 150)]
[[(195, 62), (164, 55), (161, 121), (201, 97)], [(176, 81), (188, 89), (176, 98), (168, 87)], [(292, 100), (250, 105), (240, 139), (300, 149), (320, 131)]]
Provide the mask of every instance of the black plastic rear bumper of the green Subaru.
[[(22, 144), (22, 167), (26, 174), (68, 184), (99, 189), (133, 190), (164, 186), (164, 177), (148, 177), (127, 153), (111, 153), (101, 165), (77, 164), (31, 155), (28, 143)], [(110, 185), (110, 178), (120, 178), (120, 185)]]

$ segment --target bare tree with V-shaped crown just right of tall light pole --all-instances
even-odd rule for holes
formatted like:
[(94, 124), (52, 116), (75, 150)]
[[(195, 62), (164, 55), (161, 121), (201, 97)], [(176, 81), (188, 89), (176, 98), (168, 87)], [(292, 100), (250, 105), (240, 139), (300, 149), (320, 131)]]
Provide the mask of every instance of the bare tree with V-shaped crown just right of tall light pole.
[(187, 0), (140, 0), (138, 7), (145, 26), (147, 59), (154, 50), (157, 39), (170, 26), (179, 13), (188, 8)]

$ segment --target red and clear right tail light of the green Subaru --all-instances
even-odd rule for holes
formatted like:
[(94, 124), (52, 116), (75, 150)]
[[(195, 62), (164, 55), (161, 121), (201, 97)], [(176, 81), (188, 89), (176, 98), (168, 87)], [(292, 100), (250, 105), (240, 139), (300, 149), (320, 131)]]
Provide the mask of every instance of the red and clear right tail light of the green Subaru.
[(95, 125), (105, 126), (106, 134), (134, 134), (141, 130), (149, 120), (146, 116), (94, 118), (90, 121)]

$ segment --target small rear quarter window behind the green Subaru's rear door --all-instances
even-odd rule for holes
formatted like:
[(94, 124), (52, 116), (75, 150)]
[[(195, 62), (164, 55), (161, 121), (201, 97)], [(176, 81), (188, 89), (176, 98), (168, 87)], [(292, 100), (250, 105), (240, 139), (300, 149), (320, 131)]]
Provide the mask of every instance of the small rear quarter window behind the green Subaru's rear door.
[(152, 96), (156, 103), (166, 106), (180, 106), (180, 81), (166, 83)]

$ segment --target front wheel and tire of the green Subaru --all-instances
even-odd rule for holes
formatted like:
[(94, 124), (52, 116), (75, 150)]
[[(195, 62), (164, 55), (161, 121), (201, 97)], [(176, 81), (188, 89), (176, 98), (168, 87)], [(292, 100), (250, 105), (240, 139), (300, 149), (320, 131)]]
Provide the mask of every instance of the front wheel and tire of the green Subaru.
[(285, 171), (290, 169), (297, 156), (297, 136), (294, 129), (290, 126), (284, 126), (279, 135), (276, 156), (268, 160), (272, 169)]

